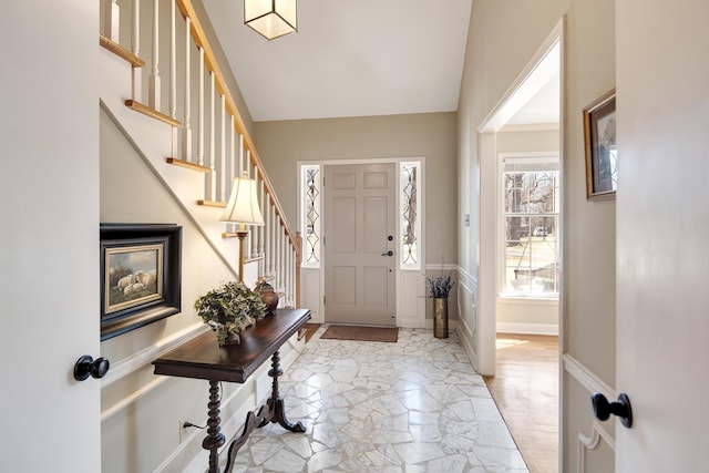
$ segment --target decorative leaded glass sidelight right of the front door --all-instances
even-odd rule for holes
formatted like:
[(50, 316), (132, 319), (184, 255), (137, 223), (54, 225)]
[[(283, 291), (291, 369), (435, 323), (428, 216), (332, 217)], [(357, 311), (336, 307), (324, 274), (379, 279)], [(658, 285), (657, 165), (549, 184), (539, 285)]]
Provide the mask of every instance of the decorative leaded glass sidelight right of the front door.
[(401, 267), (405, 269), (420, 268), (419, 263), (419, 235), (421, 224), (418, 218), (419, 204), (419, 174), (421, 164), (408, 162), (399, 164), (400, 172), (400, 202), (401, 202)]

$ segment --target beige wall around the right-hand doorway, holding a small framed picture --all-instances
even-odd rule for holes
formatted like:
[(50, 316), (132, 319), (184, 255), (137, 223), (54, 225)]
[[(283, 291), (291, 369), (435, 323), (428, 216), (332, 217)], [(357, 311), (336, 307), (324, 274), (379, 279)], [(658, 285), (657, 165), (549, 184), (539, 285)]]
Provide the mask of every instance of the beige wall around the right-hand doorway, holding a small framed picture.
[[(585, 195), (582, 110), (615, 84), (614, 1), (546, 0), (473, 2), (459, 105), (459, 206), (471, 227), (459, 228), (462, 273), (470, 275), (470, 305), (460, 317), (474, 326), (480, 275), (480, 157), (476, 128), (504, 96), (555, 25), (566, 17), (562, 84), (563, 154), (563, 327), (564, 351), (588, 372), (615, 380), (615, 202)], [(476, 340), (472, 339), (471, 343)], [(563, 471), (575, 471), (578, 433), (588, 434), (589, 392), (567, 389), (563, 379)], [(583, 419), (583, 421), (577, 421)], [(588, 453), (608, 464), (610, 449)], [(595, 460), (597, 459), (597, 460)], [(610, 462), (612, 464), (613, 462)], [(572, 467), (573, 466), (573, 467)]]

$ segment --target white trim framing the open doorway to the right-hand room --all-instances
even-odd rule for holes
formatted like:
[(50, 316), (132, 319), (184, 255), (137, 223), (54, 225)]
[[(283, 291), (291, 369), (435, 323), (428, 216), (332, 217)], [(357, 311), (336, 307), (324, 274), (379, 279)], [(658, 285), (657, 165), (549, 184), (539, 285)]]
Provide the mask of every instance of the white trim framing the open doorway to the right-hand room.
[[(480, 269), (475, 345), (481, 374), (495, 374), (496, 300), (501, 257), (500, 184), (496, 134), (562, 68), (564, 20), (559, 21), (510, 89), (477, 127), (480, 152)], [(563, 81), (563, 74), (562, 79)], [(563, 104), (563, 90), (561, 103)], [(561, 122), (561, 121), (559, 121)], [(559, 133), (563, 136), (563, 133)], [(563, 152), (563, 146), (559, 145)], [(562, 158), (563, 162), (563, 158)], [(561, 305), (561, 301), (559, 301)]]

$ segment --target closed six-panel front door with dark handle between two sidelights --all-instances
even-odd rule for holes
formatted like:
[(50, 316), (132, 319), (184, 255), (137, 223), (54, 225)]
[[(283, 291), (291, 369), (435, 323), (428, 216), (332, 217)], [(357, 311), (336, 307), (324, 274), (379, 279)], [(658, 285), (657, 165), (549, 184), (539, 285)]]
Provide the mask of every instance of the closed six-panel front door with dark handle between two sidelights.
[(395, 165), (325, 167), (325, 320), (395, 325)]

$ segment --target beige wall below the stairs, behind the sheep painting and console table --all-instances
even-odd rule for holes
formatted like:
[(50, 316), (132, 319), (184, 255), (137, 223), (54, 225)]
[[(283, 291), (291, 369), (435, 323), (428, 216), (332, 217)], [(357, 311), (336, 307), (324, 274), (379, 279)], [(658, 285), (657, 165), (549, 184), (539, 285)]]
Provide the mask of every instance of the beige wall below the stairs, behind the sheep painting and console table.
[[(175, 340), (206, 330), (194, 301), (236, 276), (109, 114), (101, 110), (100, 119), (101, 222), (174, 223), (183, 228), (182, 311), (101, 343), (101, 356), (112, 364), (101, 389), (101, 471), (199, 471), (206, 467), (204, 432), (191, 429), (181, 440), (179, 424), (204, 424), (208, 383), (157, 377), (151, 361)], [(291, 346), (284, 345), (280, 353), (287, 367)], [(243, 424), (246, 411), (265, 400), (268, 368), (264, 363), (247, 383), (223, 384), (222, 432), (227, 438)]]

